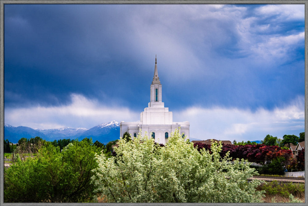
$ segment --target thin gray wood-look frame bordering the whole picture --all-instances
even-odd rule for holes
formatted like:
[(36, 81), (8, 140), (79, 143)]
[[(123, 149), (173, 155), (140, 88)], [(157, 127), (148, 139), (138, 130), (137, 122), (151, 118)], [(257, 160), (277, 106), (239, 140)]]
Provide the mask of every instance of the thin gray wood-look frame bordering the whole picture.
[[(3, 167), (4, 167), (4, 153), (3, 153), (3, 138), (4, 138), (4, 4), (305, 4), (305, 134), (308, 135), (308, 127), (306, 122), (306, 114), (308, 112), (308, 71), (307, 71), (307, 4), (308, 1), (294, 0), (168, 0), (168, 1), (146, 1), (146, 0), (4, 0), (0, 2), (0, 204), (1, 205), (93, 205), (93, 203), (4, 203), (3, 202)], [(306, 139), (305, 135), (305, 139)], [(306, 141), (305, 147), (308, 142)], [(305, 159), (308, 159), (308, 153), (305, 153)], [(308, 165), (305, 165), (305, 171), (308, 170)], [(308, 174), (305, 172), (305, 178)], [(308, 184), (305, 184), (305, 203), (272, 203), (273, 205), (308, 205)], [(231, 205), (231, 203), (95, 203), (97, 205)], [(235, 203), (236, 205), (247, 205), (247, 203)], [(234, 205), (234, 204), (233, 204)], [(269, 205), (268, 203), (249, 203), (249, 205)]]

